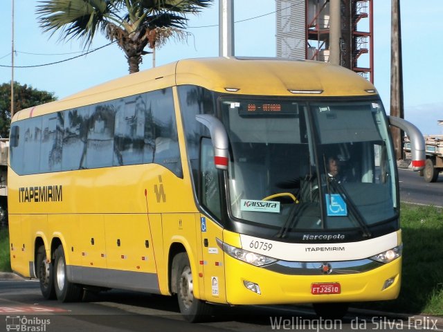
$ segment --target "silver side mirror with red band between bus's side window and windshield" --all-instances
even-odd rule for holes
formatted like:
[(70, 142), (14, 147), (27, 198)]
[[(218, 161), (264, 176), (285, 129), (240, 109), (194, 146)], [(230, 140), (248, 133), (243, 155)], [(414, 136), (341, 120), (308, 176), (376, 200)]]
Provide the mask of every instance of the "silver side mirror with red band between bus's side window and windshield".
[(215, 116), (208, 114), (199, 114), (195, 116), (195, 120), (203, 124), (209, 129), (210, 138), (214, 147), (214, 163), (217, 169), (228, 169), (229, 150), (228, 150), (228, 133), (221, 121)]

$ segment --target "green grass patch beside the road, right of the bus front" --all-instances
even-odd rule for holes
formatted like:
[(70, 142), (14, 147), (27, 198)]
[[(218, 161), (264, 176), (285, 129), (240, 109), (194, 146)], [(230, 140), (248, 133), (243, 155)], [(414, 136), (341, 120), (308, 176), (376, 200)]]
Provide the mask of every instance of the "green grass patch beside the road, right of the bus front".
[(404, 248), (399, 297), (358, 306), (443, 315), (443, 209), (401, 204), (401, 230)]

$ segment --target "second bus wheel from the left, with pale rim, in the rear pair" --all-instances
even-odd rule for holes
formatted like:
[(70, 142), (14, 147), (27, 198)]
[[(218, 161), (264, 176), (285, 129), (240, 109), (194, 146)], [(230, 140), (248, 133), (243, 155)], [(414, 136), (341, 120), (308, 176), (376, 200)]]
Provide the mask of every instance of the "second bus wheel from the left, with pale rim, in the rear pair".
[(64, 259), (62, 246), (55, 250), (54, 256), (54, 286), (57, 299), (60, 302), (79, 301), (83, 295), (83, 288), (68, 281), (66, 277), (66, 259)]

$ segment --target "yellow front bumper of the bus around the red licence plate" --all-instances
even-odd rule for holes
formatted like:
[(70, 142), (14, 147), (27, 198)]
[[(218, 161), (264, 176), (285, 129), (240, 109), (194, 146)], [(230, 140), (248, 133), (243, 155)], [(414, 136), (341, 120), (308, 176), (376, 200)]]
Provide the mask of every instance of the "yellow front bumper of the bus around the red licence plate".
[[(226, 299), (229, 304), (296, 304), (366, 302), (397, 298), (401, 257), (364, 273), (347, 275), (283, 275), (225, 255)], [(246, 287), (252, 286), (251, 289)], [(312, 284), (339, 284), (340, 293), (314, 295)], [(390, 284), (386, 287), (387, 284)], [(315, 293), (315, 292), (314, 292)]]

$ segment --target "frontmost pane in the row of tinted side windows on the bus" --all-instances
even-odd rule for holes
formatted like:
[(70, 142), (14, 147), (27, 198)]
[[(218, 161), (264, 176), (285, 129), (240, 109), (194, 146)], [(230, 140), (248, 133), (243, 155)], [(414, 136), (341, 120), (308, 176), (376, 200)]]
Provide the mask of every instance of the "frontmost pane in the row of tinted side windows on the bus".
[(147, 135), (148, 144), (152, 144), (150, 140), (154, 139), (154, 163), (163, 165), (182, 177), (172, 89), (147, 93), (146, 104), (148, 120), (145, 137)]

